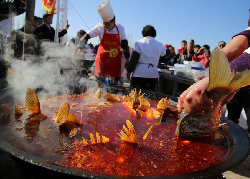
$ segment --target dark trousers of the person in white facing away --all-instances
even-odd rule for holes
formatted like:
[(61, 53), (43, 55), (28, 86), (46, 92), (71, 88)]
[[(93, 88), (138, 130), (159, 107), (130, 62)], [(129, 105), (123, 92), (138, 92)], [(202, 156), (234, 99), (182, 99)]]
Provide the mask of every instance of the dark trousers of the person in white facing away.
[(131, 77), (130, 87), (157, 92), (158, 78)]

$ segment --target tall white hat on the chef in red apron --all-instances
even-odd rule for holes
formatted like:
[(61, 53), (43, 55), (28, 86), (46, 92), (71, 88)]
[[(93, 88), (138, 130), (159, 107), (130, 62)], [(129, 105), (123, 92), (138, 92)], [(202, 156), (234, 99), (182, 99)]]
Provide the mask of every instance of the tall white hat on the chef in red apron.
[(113, 9), (110, 4), (110, 0), (104, 0), (100, 2), (97, 7), (97, 11), (100, 14), (103, 22), (108, 22), (115, 17)]

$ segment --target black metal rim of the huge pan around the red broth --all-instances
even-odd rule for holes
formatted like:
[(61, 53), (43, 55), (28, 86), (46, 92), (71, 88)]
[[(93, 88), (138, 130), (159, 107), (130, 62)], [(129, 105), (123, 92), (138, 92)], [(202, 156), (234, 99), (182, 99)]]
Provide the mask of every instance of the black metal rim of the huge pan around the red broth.
[[(130, 88), (109, 88), (109, 92), (117, 93), (123, 92), (126, 94), (130, 91)], [(2, 90), (0, 96), (0, 104), (1, 103), (12, 103), (13, 99), (9, 96), (10, 90)], [(153, 93), (150, 91), (143, 91), (146, 93), (146, 97), (153, 100), (159, 100), (166, 95)], [(171, 98), (171, 97), (170, 97)], [(177, 104), (177, 99), (172, 98), (172, 104)], [(242, 164), (246, 158), (249, 156), (250, 152), (250, 139), (248, 134), (237, 124), (233, 123), (232, 121), (228, 120), (227, 118), (222, 118), (221, 121), (223, 123), (227, 123), (228, 126), (228, 133), (225, 135), (229, 138), (230, 141), (230, 149), (228, 153), (228, 157), (222, 161), (221, 163), (214, 165), (210, 168), (182, 174), (182, 175), (173, 175), (173, 176), (164, 176), (164, 177), (143, 177), (143, 178), (166, 178), (166, 179), (186, 179), (186, 178), (215, 178), (216, 175), (221, 174), (225, 171), (231, 170), (234, 167)], [(20, 175), (18, 178), (44, 178), (44, 177), (60, 177), (60, 178), (121, 178), (114, 175), (102, 175), (98, 173), (90, 173), (86, 171), (75, 170), (71, 168), (57, 166), (55, 164), (51, 164), (46, 162), (45, 160), (35, 157), (25, 151), (19, 150), (16, 147), (12, 146), (10, 143), (3, 140), (0, 136), (0, 149), (7, 154), (9, 154), (16, 162), (16, 166), (21, 168), (22, 170), (18, 170)], [(0, 155), (1, 156), (1, 155)], [(8, 158), (8, 157), (7, 157)], [(6, 162), (2, 161), (1, 162)], [(0, 165), (1, 166), (1, 165)], [(14, 170), (16, 171), (16, 169)], [(25, 172), (25, 175), (22, 173)], [(28, 175), (27, 175), (28, 173)], [(1, 174), (1, 172), (0, 172)], [(28, 177), (27, 177), (28, 176)], [(13, 177), (12, 177), (13, 178)], [(133, 178), (142, 178), (142, 177), (133, 177)]]

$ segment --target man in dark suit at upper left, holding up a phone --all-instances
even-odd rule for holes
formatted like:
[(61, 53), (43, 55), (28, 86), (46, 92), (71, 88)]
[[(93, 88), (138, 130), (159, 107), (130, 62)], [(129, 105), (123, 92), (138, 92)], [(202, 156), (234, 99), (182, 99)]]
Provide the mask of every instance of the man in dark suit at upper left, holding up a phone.
[[(50, 40), (54, 42), (55, 29), (51, 27), (53, 16), (51, 14), (45, 14), (43, 16), (43, 24), (37, 27), (35, 35), (39, 40)], [(58, 33), (58, 37), (62, 37), (67, 33), (69, 25), (67, 24), (64, 29)]]

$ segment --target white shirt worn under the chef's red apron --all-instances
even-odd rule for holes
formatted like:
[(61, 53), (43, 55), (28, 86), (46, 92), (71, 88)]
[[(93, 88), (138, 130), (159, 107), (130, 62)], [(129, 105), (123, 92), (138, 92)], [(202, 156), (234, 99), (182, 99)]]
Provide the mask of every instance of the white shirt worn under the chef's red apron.
[[(125, 40), (126, 39), (126, 34), (125, 34), (124, 27), (122, 25), (118, 24), (118, 23), (116, 23), (115, 25), (118, 27), (119, 34), (120, 34), (120, 40)], [(98, 38), (98, 43), (101, 43), (102, 38), (103, 38), (103, 34), (104, 34), (104, 29), (105, 28), (104, 28), (103, 23), (99, 23), (93, 29), (89, 30), (87, 32), (87, 34), (89, 34), (89, 36), (91, 38), (97, 37)], [(111, 30), (106, 29), (106, 33), (108, 33), (108, 34), (118, 34), (117, 28), (114, 27)]]

